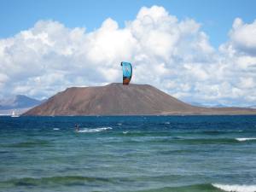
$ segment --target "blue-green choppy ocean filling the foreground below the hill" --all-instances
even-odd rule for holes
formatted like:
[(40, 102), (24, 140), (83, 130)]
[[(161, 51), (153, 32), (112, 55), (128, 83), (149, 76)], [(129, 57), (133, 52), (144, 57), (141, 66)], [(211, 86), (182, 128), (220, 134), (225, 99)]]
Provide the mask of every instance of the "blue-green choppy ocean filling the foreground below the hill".
[(0, 117), (0, 191), (253, 192), (256, 116)]

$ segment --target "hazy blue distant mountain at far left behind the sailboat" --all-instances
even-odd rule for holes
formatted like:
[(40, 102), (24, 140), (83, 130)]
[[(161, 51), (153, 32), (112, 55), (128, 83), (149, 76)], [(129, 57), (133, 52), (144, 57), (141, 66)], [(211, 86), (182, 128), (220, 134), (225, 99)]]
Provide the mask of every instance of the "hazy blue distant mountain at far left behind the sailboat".
[(18, 95), (0, 100), (0, 114), (10, 114), (13, 110), (24, 113), (26, 110), (40, 105), (43, 101), (28, 96)]

